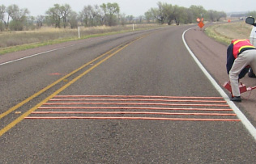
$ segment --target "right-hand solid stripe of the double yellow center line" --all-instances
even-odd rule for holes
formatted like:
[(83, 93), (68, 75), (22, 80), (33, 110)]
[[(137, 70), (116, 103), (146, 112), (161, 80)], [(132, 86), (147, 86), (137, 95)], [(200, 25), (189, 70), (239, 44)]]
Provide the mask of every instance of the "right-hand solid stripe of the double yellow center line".
[[(137, 38), (136, 40), (140, 40), (142, 39), (143, 37), (146, 37), (148, 35), (145, 35), (145, 36), (141, 36), (139, 38)], [(52, 95), (49, 95), (47, 98), (45, 98), (43, 101), (41, 101), (40, 103), (37, 103), (36, 106), (32, 107), (31, 109), (29, 109), (28, 111), (26, 111), (25, 113), (23, 113), (22, 116), (19, 116), (16, 120), (12, 121), (10, 124), (8, 124), (5, 128), (2, 128), (0, 130), (0, 137), (2, 137), (2, 135), (7, 132), (8, 130), (10, 130), (11, 128), (13, 128), (16, 124), (19, 124), (20, 121), (22, 121), (25, 117), (29, 116), (32, 111), (36, 111), (36, 109), (38, 107), (41, 107), (44, 103), (47, 103), (49, 101), (49, 99), (52, 99), (55, 95), (58, 95), (60, 92), (62, 92), (62, 90), (65, 90), (68, 86), (70, 86), (71, 84), (73, 84), (74, 82), (78, 81), (79, 78), (82, 78), (85, 74), (88, 74), (92, 69), (95, 69), (97, 66), (99, 66), (100, 64), (102, 64), (103, 62), (107, 61), (110, 57), (113, 57), (115, 54), (119, 53), (120, 51), (122, 51), (122, 49), (126, 48), (127, 46), (129, 46), (130, 44), (133, 44), (134, 41), (136, 40), (133, 40), (131, 41), (129, 44), (126, 44), (126, 45), (123, 45), (122, 48), (120, 48), (121, 46), (118, 46), (117, 48), (114, 48), (114, 49), (117, 49), (117, 51), (115, 51), (114, 53), (110, 54), (109, 57), (106, 57), (105, 59), (103, 59), (102, 61), (99, 61), (98, 63), (96, 63), (96, 65), (93, 65), (91, 68), (87, 69), (85, 72), (83, 72), (83, 74), (79, 74), (79, 76), (77, 76), (76, 78), (74, 78), (73, 80), (71, 80), (70, 82), (66, 83), (65, 86), (62, 86), (61, 88), (59, 88), (58, 90), (56, 90)], [(113, 50), (109, 51), (109, 52), (112, 52)], [(107, 53), (105, 53), (107, 54)], [(103, 55), (102, 55), (103, 56)], [(101, 57), (101, 56), (100, 56)], [(98, 57), (99, 58), (99, 57)], [(96, 61), (96, 60), (94, 60)], [(92, 61), (90, 62), (92, 63)], [(87, 65), (87, 64), (86, 64)], [(84, 67), (84, 65), (82, 66)], [(80, 67), (81, 68), (81, 67)], [(79, 69), (80, 69), (79, 68)], [(76, 70), (75, 70), (76, 71)], [(74, 72), (75, 72), (74, 71)], [(76, 71), (77, 72), (77, 71)], [(65, 77), (64, 77), (65, 78)], [(64, 79), (64, 78), (61, 78), (61, 79)], [(59, 80), (61, 81), (61, 80)], [(54, 82), (55, 83), (55, 82)], [(58, 83), (58, 82), (57, 82)], [(51, 86), (51, 85), (50, 85)], [(34, 95), (33, 95), (34, 96)], [(34, 97), (31, 97), (30, 99), (34, 98)], [(29, 99), (29, 98), (28, 98)], [(26, 99), (28, 101), (28, 99)], [(25, 101), (26, 101), (25, 100)], [(21, 104), (21, 103), (20, 103)], [(23, 104), (23, 102), (22, 102)], [(19, 105), (19, 104), (18, 104)]]

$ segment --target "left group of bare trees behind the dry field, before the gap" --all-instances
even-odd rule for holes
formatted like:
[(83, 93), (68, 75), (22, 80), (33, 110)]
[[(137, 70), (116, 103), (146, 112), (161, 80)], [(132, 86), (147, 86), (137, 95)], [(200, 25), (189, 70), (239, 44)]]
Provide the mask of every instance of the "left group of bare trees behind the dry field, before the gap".
[[(117, 3), (103, 3), (98, 6), (84, 6), (79, 13), (72, 11), (70, 5), (54, 4), (45, 15), (30, 16), (28, 9), (19, 9), (17, 5), (0, 6), (0, 30), (22, 31), (40, 28), (43, 25), (53, 27), (76, 28), (79, 25), (114, 26), (123, 19)], [(127, 17), (128, 18), (128, 17)]]

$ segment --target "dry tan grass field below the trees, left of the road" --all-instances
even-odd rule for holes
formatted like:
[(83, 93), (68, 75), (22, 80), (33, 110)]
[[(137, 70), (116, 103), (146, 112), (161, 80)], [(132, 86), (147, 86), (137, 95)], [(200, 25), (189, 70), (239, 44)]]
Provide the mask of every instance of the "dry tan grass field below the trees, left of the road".
[[(157, 24), (138, 24), (135, 29), (159, 27)], [(109, 32), (122, 32), (132, 30), (132, 25), (115, 27), (80, 27), (81, 38)], [(16, 45), (42, 43), (49, 40), (78, 39), (78, 29), (58, 29), (42, 27), (35, 31), (0, 32), (0, 48), (8, 48)]]

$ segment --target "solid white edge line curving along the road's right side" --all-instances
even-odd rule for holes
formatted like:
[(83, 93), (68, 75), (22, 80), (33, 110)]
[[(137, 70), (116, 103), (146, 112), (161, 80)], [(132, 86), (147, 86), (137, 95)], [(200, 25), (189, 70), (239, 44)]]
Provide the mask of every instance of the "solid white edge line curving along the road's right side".
[(239, 108), (228, 98), (228, 95), (222, 90), (222, 88), (218, 85), (217, 82), (215, 82), (214, 78), (211, 77), (211, 75), (207, 72), (207, 69), (203, 67), (200, 61), (198, 61), (198, 58), (195, 57), (194, 53), (190, 50), (189, 46), (186, 44), (185, 40), (185, 33), (192, 29), (194, 27), (191, 27), (187, 29), (182, 34), (182, 40), (185, 44), (187, 50), (189, 51), (190, 55), (194, 58), (194, 61), (198, 64), (199, 68), (202, 69), (203, 73), (207, 76), (207, 78), (210, 80), (211, 84), (215, 86), (215, 89), (219, 91), (220, 95), (227, 101), (229, 107), (233, 109), (233, 111), (237, 114), (237, 117), (241, 120), (241, 123), (245, 125), (245, 128), (247, 128), (250, 132), (250, 134), (254, 137), (254, 140), (256, 140), (256, 128), (254, 128), (254, 125), (250, 123), (250, 121), (245, 117), (245, 115), (239, 110)]

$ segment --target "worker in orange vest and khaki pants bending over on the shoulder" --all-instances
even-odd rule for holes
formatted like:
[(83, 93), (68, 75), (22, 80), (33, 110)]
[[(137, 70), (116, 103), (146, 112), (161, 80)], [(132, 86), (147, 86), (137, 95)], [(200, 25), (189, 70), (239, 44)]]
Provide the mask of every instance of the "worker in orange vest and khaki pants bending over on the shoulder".
[(249, 40), (232, 40), (227, 50), (226, 67), (233, 92), (230, 100), (241, 102), (239, 79), (243, 78), (250, 68), (256, 70), (256, 48)]

